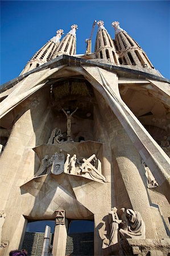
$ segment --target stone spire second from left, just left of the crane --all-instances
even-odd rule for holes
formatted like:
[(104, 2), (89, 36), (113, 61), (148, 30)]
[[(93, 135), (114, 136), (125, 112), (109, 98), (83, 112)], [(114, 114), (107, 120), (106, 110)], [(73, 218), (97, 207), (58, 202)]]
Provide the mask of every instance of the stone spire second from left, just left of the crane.
[(64, 36), (59, 46), (53, 52), (52, 59), (62, 54), (71, 56), (76, 54), (76, 30), (78, 29), (78, 26), (73, 24), (71, 28), (71, 31)]

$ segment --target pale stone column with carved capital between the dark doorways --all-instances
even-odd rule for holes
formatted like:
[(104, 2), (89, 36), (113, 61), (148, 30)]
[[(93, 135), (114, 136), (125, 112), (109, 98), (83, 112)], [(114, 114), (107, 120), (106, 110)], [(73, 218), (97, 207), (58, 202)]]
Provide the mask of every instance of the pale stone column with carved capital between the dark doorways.
[(65, 256), (67, 242), (68, 220), (65, 219), (65, 210), (56, 210), (56, 226), (53, 238), (53, 256)]

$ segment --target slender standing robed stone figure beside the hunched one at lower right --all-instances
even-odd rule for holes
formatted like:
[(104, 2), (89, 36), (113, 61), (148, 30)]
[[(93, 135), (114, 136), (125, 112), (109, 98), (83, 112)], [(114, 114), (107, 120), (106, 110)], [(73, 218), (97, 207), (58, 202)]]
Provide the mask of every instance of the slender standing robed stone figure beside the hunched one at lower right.
[(110, 222), (110, 243), (109, 245), (115, 245), (118, 242), (118, 228), (122, 220), (119, 220), (117, 214), (117, 208), (114, 207), (109, 212), (109, 222)]

